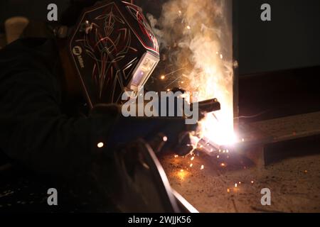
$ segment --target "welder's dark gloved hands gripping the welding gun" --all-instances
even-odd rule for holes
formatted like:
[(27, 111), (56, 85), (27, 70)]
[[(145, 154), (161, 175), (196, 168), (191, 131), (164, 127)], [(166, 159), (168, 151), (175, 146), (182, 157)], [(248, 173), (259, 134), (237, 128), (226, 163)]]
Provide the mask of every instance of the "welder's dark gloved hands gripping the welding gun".
[(105, 104), (95, 106), (90, 115), (101, 118), (116, 116), (107, 135), (104, 132), (97, 135), (105, 142), (107, 148), (114, 149), (143, 138), (156, 152), (169, 151), (186, 155), (192, 150), (189, 133), (196, 131), (196, 125), (187, 125), (185, 118), (124, 117), (120, 106)]

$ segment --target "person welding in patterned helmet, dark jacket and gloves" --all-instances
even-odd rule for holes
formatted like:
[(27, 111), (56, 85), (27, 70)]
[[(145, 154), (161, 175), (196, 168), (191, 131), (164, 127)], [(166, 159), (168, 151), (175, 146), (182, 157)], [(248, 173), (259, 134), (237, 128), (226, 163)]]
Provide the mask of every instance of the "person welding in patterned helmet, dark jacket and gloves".
[(159, 62), (142, 10), (80, 1), (66, 15), (48, 37), (21, 38), (0, 52), (2, 152), (36, 172), (72, 178), (137, 140), (162, 136), (172, 150), (191, 130), (185, 119), (124, 118), (119, 108), (122, 93), (137, 92)]

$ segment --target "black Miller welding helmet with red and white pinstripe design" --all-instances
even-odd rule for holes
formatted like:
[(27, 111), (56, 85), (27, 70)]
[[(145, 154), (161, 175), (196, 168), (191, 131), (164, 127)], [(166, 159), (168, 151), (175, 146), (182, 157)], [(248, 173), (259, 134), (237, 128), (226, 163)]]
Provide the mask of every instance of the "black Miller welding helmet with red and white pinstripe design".
[(119, 104), (123, 92), (139, 92), (159, 62), (159, 45), (142, 9), (125, 1), (84, 9), (68, 36), (90, 107)]

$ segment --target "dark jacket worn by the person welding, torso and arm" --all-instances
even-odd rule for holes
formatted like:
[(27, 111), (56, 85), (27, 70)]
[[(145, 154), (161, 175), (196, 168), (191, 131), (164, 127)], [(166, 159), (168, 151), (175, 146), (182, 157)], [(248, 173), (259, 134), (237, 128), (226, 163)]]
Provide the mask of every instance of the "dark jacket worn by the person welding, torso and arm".
[(70, 176), (90, 166), (114, 116), (70, 118), (61, 111), (53, 52), (46, 40), (0, 50), (0, 150), (37, 172)]

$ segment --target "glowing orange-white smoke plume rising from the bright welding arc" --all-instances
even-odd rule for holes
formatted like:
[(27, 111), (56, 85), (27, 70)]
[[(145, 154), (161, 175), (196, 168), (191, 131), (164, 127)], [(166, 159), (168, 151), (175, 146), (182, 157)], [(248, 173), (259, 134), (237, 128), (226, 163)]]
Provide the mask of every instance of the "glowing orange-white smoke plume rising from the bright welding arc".
[(201, 122), (203, 136), (220, 145), (233, 140), (233, 43), (229, 0), (171, 0), (161, 17), (148, 15), (167, 62), (181, 69), (179, 87), (217, 98), (221, 111)]

